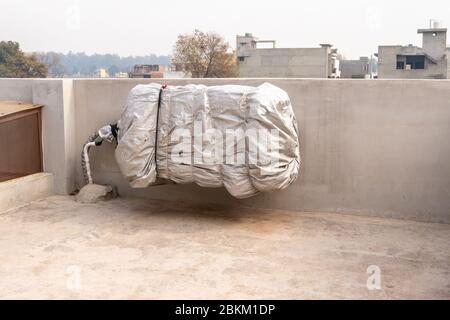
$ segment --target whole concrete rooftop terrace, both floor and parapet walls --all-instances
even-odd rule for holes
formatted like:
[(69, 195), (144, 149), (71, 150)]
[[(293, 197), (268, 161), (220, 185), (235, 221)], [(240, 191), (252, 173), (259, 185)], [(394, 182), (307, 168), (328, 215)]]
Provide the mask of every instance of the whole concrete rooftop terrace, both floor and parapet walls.
[(120, 197), (75, 202), (84, 142), (154, 81), (0, 79), (43, 106), (45, 172), (0, 183), (0, 298), (450, 299), (450, 81), (158, 80), (286, 90), (299, 179), (246, 200), (131, 189), (105, 143), (94, 181)]

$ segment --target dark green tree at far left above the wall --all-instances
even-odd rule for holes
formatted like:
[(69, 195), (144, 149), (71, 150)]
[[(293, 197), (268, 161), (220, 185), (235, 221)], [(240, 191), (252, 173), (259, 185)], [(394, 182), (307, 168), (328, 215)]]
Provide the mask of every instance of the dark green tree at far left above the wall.
[(47, 66), (25, 55), (17, 42), (0, 42), (0, 78), (45, 78), (47, 73)]

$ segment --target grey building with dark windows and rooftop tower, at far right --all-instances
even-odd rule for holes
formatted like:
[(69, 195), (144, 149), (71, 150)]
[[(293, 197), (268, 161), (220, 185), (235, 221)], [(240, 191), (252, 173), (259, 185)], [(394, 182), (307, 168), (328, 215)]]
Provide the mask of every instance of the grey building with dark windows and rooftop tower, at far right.
[(450, 78), (450, 50), (447, 48), (447, 29), (440, 22), (431, 21), (429, 29), (419, 29), (422, 47), (379, 46), (378, 77), (397, 79)]

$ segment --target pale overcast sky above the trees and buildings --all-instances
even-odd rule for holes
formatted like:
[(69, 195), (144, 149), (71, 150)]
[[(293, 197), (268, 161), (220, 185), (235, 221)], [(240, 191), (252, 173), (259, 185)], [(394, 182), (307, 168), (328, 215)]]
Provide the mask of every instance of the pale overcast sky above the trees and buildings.
[(275, 39), (278, 47), (332, 43), (348, 58), (378, 44), (420, 45), (429, 19), (450, 24), (449, 0), (0, 0), (0, 40), (24, 51), (170, 54), (179, 33)]

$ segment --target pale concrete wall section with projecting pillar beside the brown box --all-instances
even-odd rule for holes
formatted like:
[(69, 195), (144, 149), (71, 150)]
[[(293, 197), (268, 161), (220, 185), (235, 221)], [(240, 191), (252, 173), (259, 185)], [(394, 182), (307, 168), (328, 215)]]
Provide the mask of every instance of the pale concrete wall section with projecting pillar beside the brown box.
[(75, 186), (75, 99), (71, 79), (0, 79), (0, 100), (42, 104), (44, 171), (54, 175), (55, 192)]

